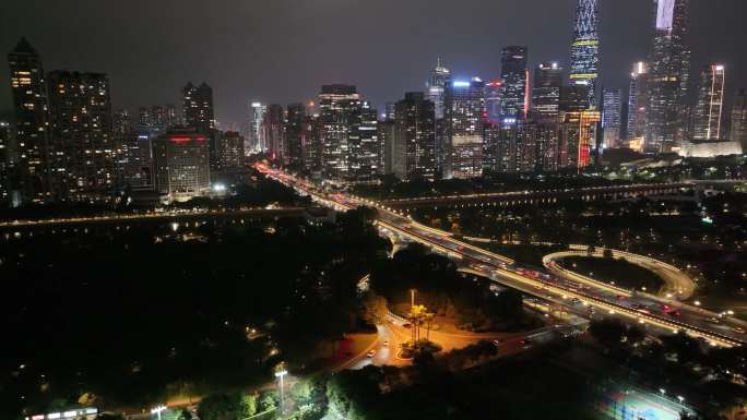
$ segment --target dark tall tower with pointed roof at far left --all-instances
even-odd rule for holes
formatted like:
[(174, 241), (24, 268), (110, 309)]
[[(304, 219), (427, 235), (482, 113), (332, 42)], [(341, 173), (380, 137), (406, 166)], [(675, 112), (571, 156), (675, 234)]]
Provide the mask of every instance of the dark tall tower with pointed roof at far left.
[(24, 201), (52, 196), (46, 74), (36, 50), (22, 38), (8, 55), (19, 145), (20, 188)]

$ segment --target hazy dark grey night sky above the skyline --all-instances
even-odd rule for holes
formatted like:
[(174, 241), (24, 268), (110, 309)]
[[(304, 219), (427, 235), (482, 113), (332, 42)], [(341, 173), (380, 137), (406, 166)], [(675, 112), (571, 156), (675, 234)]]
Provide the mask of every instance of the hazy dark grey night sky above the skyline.
[[(115, 108), (177, 103), (212, 85), (223, 128), (244, 129), (250, 99), (311, 99), (351, 83), (380, 105), (420, 89), (437, 56), (456, 77), (498, 75), (502, 46), (532, 65), (567, 68), (577, 0), (2, 0), (0, 50), (25, 35), (45, 70), (106, 72)], [(650, 46), (651, 0), (602, 0), (602, 83), (627, 85)], [(747, 86), (747, 0), (691, 0), (692, 68), (727, 65)], [(3, 59), (3, 61), (5, 61)], [(8, 64), (0, 110), (11, 108)], [(696, 72), (693, 71), (695, 75)]]

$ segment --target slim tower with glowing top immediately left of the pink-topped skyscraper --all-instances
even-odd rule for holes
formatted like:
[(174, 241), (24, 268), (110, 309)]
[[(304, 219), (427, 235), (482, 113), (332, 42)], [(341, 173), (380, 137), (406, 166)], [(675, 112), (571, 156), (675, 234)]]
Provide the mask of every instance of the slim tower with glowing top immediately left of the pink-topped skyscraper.
[(649, 79), (648, 64), (639, 61), (630, 73), (628, 94), (628, 121), (626, 137), (628, 147), (641, 152), (647, 139), (649, 121)]

